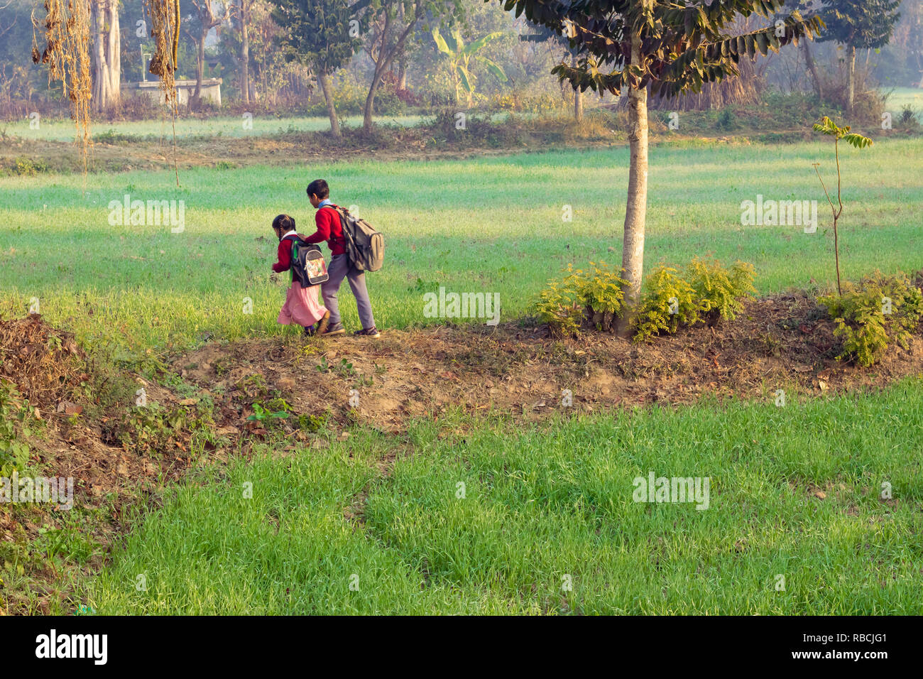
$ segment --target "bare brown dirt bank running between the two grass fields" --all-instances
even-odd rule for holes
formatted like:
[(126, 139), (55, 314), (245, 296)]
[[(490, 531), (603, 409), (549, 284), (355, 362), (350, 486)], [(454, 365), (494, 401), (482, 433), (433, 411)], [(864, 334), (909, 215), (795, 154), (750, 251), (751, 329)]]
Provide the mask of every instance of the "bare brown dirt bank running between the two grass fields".
[[(378, 340), (267, 339), (212, 344), (174, 362), (216, 404), (223, 431), (261, 433), (267, 404), (291, 406), (279, 422), (328, 413), (342, 426), (366, 421), (402, 430), (447, 408), (489, 409), (517, 419), (652, 402), (772, 398), (774, 390), (825, 394), (923, 373), (923, 340), (894, 346), (865, 370), (835, 359), (833, 323), (801, 295), (749, 302), (736, 321), (699, 326), (648, 345), (592, 333), (557, 341), (545, 328), (438, 327)], [(271, 408), (270, 408), (271, 409)], [(271, 419), (271, 417), (269, 418)]]

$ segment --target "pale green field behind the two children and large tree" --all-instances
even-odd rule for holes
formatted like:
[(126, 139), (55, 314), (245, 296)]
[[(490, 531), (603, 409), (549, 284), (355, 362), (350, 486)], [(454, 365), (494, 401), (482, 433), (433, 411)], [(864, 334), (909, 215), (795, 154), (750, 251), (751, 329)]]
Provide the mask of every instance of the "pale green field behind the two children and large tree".
[[(919, 269), (923, 140), (842, 150), (845, 278), (880, 268)], [(830, 285), (833, 234), (812, 163), (835, 182), (829, 144), (680, 143), (651, 152), (645, 259), (696, 255), (752, 262), (757, 286)], [(534, 295), (568, 263), (621, 261), (628, 151), (545, 152), (432, 162), (310, 167), (198, 168), (174, 176), (0, 177), (0, 312), (42, 314), (85, 341), (128, 353), (183, 349), (208, 333), (231, 339), (282, 332), (283, 285), (269, 281), (272, 217), (291, 213), (313, 231), (307, 182), (323, 176), (332, 197), (358, 206), (385, 232), (385, 269), (369, 275), (379, 327), (426, 322), (426, 292), (497, 292), (502, 319), (527, 314)], [(185, 230), (109, 224), (109, 203), (183, 200)], [(820, 228), (742, 226), (743, 200), (818, 200)], [(563, 220), (564, 206), (573, 210)], [(145, 215), (146, 216), (146, 215)], [(263, 237), (265, 240), (257, 240)], [(344, 317), (355, 326), (345, 294)], [(253, 313), (244, 313), (246, 298)]]

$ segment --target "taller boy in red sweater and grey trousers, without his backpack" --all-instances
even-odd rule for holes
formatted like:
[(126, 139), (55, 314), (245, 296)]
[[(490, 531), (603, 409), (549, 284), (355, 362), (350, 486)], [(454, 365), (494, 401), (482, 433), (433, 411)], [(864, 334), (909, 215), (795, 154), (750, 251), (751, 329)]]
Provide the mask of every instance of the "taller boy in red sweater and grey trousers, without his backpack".
[(315, 214), (318, 230), (312, 236), (306, 237), (305, 242), (319, 243), (326, 240), (327, 247), (330, 248), (330, 265), (327, 267), (330, 278), (327, 283), (320, 285), (324, 306), (330, 311), (330, 321), (327, 330), (320, 333), (321, 336), (331, 337), (346, 333), (342, 326), (337, 294), (340, 292), (343, 278), (348, 278), (349, 286), (353, 289), (356, 309), (359, 310), (359, 321), (362, 321), (362, 330), (357, 330), (353, 334), (361, 337), (379, 337), (381, 333), (375, 327), (372, 303), (366, 290), (366, 273), (356, 271), (350, 264), (349, 256), (346, 254), (346, 239), (342, 232), (340, 212), (334, 210), (335, 206), (330, 202), (330, 187), (327, 186), (327, 182), (315, 179), (308, 184), (307, 199), (318, 209)]

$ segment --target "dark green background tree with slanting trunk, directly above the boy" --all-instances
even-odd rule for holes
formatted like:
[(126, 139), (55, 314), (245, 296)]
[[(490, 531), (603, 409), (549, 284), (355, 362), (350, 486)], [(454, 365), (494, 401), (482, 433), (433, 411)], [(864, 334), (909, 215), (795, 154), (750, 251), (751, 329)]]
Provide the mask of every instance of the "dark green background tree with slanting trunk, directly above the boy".
[(285, 28), (278, 41), (285, 58), (314, 68), (327, 102), (330, 131), (334, 137), (340, 137), (330, 74), (348, 64), (362, 44), (358, 37), (359, 19), (346, 0), (272, 0), (272, 3), (273, 20)]

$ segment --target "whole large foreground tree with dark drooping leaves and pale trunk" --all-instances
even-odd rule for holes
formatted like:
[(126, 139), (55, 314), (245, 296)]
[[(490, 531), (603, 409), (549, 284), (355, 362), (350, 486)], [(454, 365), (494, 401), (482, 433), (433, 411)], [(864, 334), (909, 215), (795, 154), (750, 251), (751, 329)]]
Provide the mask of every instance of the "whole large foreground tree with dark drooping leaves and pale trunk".
[(737, 76), (741, 57), (767, 55), (787, 42), (820, 30), (818, 18), (802, 19), (794, 12), (785, 19), (741, 35), (729, 32), (738, 17), (773, 16), (785, 0), (693, 0), (679, 5), (668, 0), (500, 0), (517, 16), (572, 35), (577, 65), (559, 64), (553, 73), (582, 91), (628, 90), (628, 201), (622, 239), (622, 270), (626, 313), (618, 333), (630, 333), (641, 297), (644, 224), (647, 212), (648, 120), (647, 92), (677, 96), (701, 91), (703, 83)]

